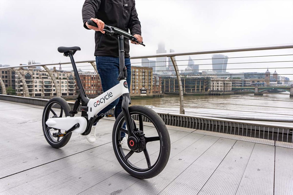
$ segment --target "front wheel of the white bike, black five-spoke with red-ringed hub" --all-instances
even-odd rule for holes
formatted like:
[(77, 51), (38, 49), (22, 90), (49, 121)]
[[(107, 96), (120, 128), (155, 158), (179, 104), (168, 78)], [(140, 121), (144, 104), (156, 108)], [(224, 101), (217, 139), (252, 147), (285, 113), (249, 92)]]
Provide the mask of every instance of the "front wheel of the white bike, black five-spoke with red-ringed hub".
[[(128, 132), (123, 128), (125, 119), (121, 112), (115, 121), (112, 135), (116, 158), (130, 175), (140, 179), (154, 177), (164, 169), (170, 156), (168, 130), (159, 115), (148, 107), (130, 106), (129, 112), (136, 134), (140, 135), (141, 149), (133, 151), (122, 148), (121, 132), (126, 135)], [(127, 143), (128, 146), (134, 144), (130, 138)]]

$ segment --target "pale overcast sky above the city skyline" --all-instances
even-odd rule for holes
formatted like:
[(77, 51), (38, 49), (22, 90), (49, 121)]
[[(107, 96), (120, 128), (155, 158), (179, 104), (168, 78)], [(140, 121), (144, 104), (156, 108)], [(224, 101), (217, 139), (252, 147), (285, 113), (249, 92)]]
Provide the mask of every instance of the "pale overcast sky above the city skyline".
[[(69, 61), (59, 46), (79, 46), (75, 61), (94, 59), (94, 31), (83, 27), (83, 0), (0, 0), (0, 64), (11, 66), (35, 60), (42, 64)], [(156, 54), (159, 42), (166, 50), (192, 52), (293, 43), (293, 1), (136, 0), (146, 47), (132, 45), (131, 56)], [(229, 57), (293, 54), (293, 49), (226, 53)], [(209, 55), (192, 59), (211, 58)], [(188, 59), (177, 57), (176, 59)], [(286, 57), (229, 59), (228, 63), (292, 61)], [(137, 62), (137, 61), (133, 61)], [(186, 65), (187, 62), (178, 62)], [(197, 60), (195, 64), (211, 64)], [(184, 69), (186, 66), (180, 66)], [(264, 72), (269, 68), (292, 79), (292, 62), (231, 64), (229, 72)], [(284, 69), (287, 67), (287, 69)], [(283, 69), (281, 69), (283, 68)], [(289, 68), (289, 69), (288, 69)], [(212, 69), (201, 65), (200, 69)]]

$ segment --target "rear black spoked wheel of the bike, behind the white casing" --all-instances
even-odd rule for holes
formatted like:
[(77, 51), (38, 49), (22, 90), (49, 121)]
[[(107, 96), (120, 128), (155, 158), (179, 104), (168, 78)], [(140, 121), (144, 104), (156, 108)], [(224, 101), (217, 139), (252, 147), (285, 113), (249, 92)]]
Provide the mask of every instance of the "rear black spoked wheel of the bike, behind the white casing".
[(46, 121), (49, 118), (57, 118), (57, 117), (67, 117), (70, 116), (69, 114), (70, 107), (68, 103), (60, 97), (54, 97), (50, 99), (43, 111), (42, 116), (42, 127), (43, 127), (43, 133), (47, 140), (47, 142), (53, 147), (53, 148), (61, 148), (65, 146), (70, 137), (71, 133), (69, 133), (67, 136), (64, 137), (53, 137), (53, 133), (61, 132), (64, 133), (65, 131), (60, 129), (54, 129), (52, 127), (48, 127), (46, 124)]

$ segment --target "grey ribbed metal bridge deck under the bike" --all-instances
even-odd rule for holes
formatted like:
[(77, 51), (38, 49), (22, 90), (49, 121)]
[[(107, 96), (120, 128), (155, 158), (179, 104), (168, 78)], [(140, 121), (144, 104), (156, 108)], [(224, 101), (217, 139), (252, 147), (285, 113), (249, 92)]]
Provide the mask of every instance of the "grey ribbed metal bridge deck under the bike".
[(54, 149), (42, 107), (0, 101), (0, 194), (293, 194), (293, 145), (168, 126), (171, 155), (151, 179), (122, 169), (112, 148), (113, 120), (97, 141), (72, 134)]

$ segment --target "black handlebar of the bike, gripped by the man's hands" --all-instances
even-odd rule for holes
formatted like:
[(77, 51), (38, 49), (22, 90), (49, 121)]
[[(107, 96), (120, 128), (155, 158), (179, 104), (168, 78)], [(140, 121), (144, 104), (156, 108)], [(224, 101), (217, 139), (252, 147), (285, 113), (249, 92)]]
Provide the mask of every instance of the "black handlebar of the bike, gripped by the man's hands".
[[(88, 20), (87, 23), (88, 23), (88, 25), (91, 25), (91, 26), (94, 26), (94, 27), (97, 27), (98, 28), (97, 23), (95, 23), (93, 20)], [(131, 41), (134, 41), (134, 42), (136, 42), (139, 45), (145, 46), (143, 44), (143, 42), (139, 42), (136, 37), (132, 36), (130, 33), (127, 33), (124, 30), (121, 30), (119, 28), (105, 25), (103, 31), (105, 31), (105, 33), (107, 35), (113, 35), (114, 33), (115, 34), (118, 34), (118, 35), (123, 35), (124, 38), (126, 38), (128, 40), (131, 40)]]

